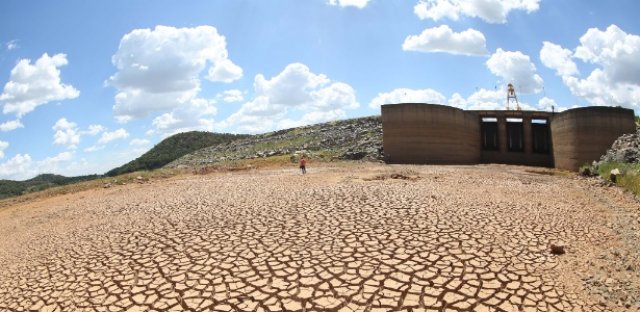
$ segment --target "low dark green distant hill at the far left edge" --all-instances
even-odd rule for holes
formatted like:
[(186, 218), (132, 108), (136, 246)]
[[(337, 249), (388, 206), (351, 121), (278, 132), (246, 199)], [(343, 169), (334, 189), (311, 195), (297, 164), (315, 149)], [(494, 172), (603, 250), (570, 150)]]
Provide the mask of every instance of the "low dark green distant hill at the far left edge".
[(54, 186), (62, 186), (100, 178), (100, 175), (65, 177), (56, 174), (41, 174), (25, 181), (0, 180), (0, 199), (42, 191)]

